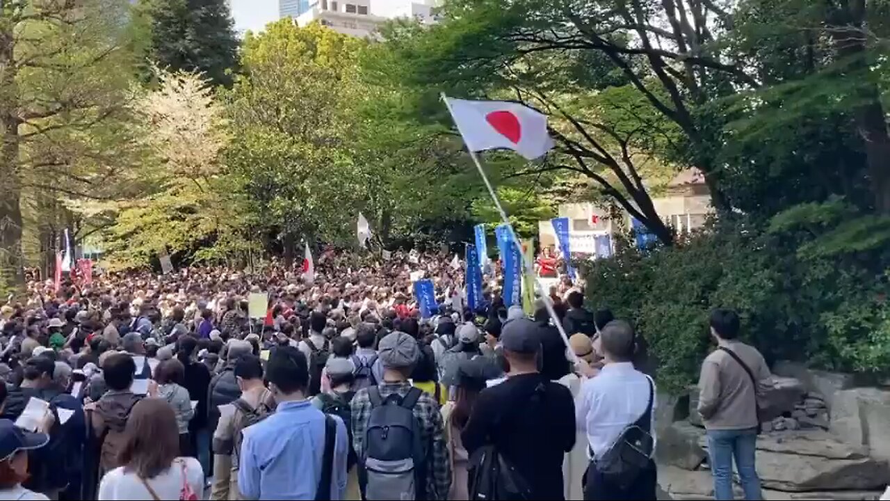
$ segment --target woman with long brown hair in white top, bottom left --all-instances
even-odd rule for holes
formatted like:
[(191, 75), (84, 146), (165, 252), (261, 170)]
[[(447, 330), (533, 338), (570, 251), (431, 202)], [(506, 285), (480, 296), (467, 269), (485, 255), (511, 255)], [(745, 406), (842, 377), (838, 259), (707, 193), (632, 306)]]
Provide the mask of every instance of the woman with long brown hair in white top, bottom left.
[(133, 407), (120, 462), (102, 477), (100, 500), (198, 499), (204, 492), (204, 471), (198, 460), (179, 455), (176, 415), (161, 398)]

